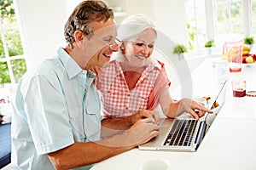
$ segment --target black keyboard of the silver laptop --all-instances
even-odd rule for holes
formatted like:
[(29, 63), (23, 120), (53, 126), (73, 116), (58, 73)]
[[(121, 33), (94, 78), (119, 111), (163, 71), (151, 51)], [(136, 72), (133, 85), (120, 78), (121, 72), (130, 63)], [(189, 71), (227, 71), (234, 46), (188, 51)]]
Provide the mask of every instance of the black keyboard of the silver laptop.
[(176, 119), (164, 145), (188, 146), (195, 134), (196, 120)]

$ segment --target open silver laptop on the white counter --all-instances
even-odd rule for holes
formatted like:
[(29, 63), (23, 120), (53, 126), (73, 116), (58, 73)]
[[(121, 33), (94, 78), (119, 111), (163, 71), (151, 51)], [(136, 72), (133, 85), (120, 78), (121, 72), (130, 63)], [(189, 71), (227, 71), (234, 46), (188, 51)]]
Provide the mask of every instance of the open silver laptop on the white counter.
[(175, 119), (163, 119), (159, 135), (148, 143), (139, 145), (138, 148), (140, 150), (196, 151), (221, 107), (224, 105), (226, 82), (224, 82), (218, 90), (218, 94), (211, 98), (207, 105), (208, 109), (212, 109), (215, 101), (218, 103), (218, 107), (212, 109), (213, 113), (207, 113), (198, 121), (193, 118), (178, 117)]

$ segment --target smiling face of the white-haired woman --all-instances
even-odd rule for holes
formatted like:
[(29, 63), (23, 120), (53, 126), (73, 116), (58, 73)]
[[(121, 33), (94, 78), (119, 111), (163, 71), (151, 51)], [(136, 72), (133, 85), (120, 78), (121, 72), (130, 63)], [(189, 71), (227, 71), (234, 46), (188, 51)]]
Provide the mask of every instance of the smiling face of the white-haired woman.
[(148, 57), (153, 53), (155, 39), (155, 31), (148, 28), (137, 37), (136, 41), (124, 42), (123, 54), (129, 65), (136, 67), (146, 65)]

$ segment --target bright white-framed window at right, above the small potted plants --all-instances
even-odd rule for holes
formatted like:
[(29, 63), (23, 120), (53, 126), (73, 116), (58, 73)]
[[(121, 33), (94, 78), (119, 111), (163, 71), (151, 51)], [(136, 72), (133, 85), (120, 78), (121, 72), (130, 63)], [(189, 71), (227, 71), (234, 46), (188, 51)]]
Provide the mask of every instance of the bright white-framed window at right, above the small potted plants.
[(210, 39), (221, 51), (226, 41), (256, 35), (256, 0), (186, 0), (185, 7), (191, 52)]

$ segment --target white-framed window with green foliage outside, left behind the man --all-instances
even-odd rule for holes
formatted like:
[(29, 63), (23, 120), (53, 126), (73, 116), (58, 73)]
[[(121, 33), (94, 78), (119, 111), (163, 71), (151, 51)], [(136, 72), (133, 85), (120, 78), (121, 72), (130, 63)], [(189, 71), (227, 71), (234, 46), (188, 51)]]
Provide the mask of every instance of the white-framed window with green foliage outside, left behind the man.
[(0, 0), (0, 85), (19, 82), (26, 72), (13, 0)]

